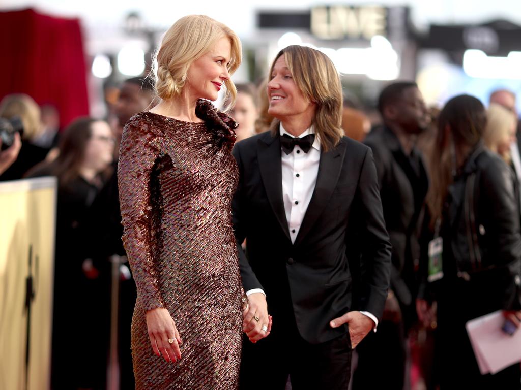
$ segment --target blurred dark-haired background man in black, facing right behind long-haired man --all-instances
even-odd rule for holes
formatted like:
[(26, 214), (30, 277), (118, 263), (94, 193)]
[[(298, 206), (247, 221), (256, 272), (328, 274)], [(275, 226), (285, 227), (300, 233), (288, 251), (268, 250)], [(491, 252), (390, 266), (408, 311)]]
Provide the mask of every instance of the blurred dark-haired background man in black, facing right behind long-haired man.
[(364, 143), (375, 156), (383, 217), (392, 245), (391, 290), (378, 332), (356, 350), (353, 390), (404, 388), (405, 336), (416, 318), (417, 225), (428, 189), (423, 158), (415, 147), (418, 135), (429, 124), (418, 86), (413, 82), (388, 85), (380, 93), (378, 109), (383, 126), (371, 131)]

